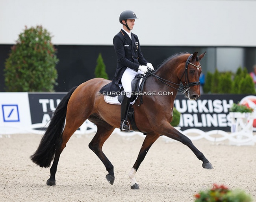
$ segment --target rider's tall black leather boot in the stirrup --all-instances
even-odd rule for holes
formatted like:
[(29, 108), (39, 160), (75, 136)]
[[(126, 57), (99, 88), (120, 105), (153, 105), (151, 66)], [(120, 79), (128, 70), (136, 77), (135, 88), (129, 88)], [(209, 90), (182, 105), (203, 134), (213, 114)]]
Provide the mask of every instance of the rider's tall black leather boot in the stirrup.
[[(130, 107), (130, 97), (123, 96), (121, 102), (121, 125), (120, 130), (130, 131), (130, 126), (127, 121), (128, 110)], [(127, 125), (128, 124), (128, 125)]]

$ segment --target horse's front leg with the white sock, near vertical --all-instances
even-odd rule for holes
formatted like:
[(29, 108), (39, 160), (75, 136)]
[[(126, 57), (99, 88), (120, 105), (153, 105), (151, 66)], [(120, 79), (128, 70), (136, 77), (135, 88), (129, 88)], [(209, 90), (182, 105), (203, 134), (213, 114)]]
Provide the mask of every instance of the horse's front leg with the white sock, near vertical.
[(132, 182), (131, 189), (139, 189), (139, 185), (137, 184), (135, 180), (135, 174), (141, 165), (141, 162), (143, 162), (148, 150), (152, 146), (152, 144), (159, 138), (160, 135), (158, 134), (147, 134), (145, 140), (143, 141), (143, 144), (141, 146), (141, 150), (139, 151), (139, 155), (137, 157), (136, 162), (134, 163), (134, 166), (132, 167), (132, 170), (129, 173), (129, 178)]

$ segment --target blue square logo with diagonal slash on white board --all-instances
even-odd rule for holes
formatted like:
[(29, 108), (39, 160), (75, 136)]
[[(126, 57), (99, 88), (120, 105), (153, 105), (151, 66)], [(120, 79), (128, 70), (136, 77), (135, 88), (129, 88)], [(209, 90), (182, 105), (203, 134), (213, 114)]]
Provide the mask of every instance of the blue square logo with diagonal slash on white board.
[(2, 105), (4, 122), (19, 122), (18, 105)]

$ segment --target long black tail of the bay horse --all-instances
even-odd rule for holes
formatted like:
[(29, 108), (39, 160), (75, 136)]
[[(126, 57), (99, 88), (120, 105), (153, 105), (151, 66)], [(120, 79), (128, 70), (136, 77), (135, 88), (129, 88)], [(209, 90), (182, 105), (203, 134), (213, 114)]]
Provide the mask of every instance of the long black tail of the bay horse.
[(62, 98), (50, 120), (50, 124), (45, 134), (41, 139), (37, 151), (30, 156), (30, 159), (40, 167), (49, 167), (51, 165), (56, 152), (56, 147), (61, 144), (62, 132), (67, 113), (67, 105), (69, 98), (76, 88), (77, 86), (72, 88), (67, 95)]

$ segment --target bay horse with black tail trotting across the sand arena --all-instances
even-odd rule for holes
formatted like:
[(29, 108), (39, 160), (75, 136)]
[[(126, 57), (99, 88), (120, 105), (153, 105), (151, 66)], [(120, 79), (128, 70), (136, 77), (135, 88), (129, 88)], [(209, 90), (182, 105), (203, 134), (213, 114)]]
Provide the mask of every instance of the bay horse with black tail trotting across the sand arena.
[[(195, 100), (200, 97), (199, 76), (202, 72), (200, 60), (204, 54), (205, 52), (201, 55), (198, 55), (198, 52), (193, 54), (177, 53), (166, 59), (154, 73), (151, 72), (145, 81), (143, 92), (146, 94), (143, 93), (143, 103), (139, 105), (137, 99), (133, 105), (137, 128), (146, 136), (137, 160), (128, 174), (132, 182), (131, 189), (139, 189), (135, 173), (152, 144), (161, 135), (187, 145), (203, 162), (202, 167), (213, 169), (211, 163), (193, 145), (192, 141), (170, 124), (173, 117), (174, 99), (181, 83), (184, 86), (182, 92), (188, 99)], [(102, 146), (113, 130), (120, 127), (121, 107), (106, 103), (104, 96), (98, 93), (109, 82), (102, 78), (86, 81), (72, 88), (59, 103), (45, 134), (42, 136), (39, 147), (30, 156), (31, 160), (40, 167), (50, 167), (53, 161), (47, 185), (56, 184), (55, 174), (60, 154), (66, 147), (69, 138), (86, 119), (97, 126), (97, 132), (89, 143), (89, 148), (105, 165), (108, 171), (106, 175), (108, 182), (111, 185), (114, 183), (114, 167), (102, 151)], [(156, 92), (156, 94), (152, 95), (148, 92)], [(157, 92), (173, 92), (173, 94), (163, 95), (157, 94)]]

